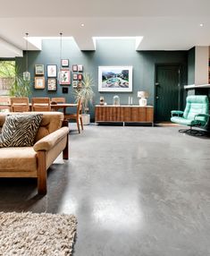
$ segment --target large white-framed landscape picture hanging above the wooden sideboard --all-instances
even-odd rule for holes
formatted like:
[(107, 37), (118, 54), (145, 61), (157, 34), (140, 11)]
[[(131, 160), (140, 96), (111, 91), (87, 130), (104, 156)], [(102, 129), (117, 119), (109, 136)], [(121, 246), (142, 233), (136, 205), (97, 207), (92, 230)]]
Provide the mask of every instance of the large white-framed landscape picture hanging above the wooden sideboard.
[(132, 66), (99, 66), (98, 91), (132, 91)]

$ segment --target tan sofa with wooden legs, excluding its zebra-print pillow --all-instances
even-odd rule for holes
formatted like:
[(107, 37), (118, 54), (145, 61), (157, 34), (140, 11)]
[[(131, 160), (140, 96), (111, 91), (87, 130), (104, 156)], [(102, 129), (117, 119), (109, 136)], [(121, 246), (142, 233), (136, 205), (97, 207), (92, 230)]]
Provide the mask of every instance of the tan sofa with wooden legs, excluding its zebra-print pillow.
[[(46, 194), (47, 168), (62, 151), (63, 159), (68, 159), (69, 128), (63, 126), (63, 113), (41, 113), (43, 118), (33, 147), (0, 148), (0, 177), (37, 178), (38, 193)], [(7, 114), (0, 113), (0, 128)]]

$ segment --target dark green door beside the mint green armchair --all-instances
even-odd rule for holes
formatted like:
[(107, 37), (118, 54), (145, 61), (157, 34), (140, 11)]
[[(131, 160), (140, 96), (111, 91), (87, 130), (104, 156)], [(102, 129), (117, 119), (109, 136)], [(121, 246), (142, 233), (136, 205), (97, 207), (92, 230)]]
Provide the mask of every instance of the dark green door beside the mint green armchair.
[(171, 110), (180, 109), (180, 67), (156, 65), (155, 122), (170, 122)]

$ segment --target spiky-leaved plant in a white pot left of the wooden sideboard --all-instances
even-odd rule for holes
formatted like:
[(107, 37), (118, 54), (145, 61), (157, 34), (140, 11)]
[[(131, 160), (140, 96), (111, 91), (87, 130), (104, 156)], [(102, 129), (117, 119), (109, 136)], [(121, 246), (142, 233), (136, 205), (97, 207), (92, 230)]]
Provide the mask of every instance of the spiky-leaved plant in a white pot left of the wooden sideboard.
[(75, 98), (78, 102), (81, 99), (82, 107), (84, 110), (84, 114), (82, 114), (82, 123), (89, 124), (90, 123), (90, 115), (88, 114), (88, 105), (92, 104), (93, 97), (95, 95), (93, 91), (94, 87), (94, 80), (89, 73), (83, 74), (83, 81), (81, 87), (75, 90)]

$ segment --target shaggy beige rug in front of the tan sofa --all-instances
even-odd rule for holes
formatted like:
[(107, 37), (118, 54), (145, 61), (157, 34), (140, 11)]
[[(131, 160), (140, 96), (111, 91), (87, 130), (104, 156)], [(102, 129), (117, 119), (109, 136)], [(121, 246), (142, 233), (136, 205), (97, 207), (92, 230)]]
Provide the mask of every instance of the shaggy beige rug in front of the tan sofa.
[(76, 226), (73, 215), (0, 212), (0, 255), (71, 255)]

